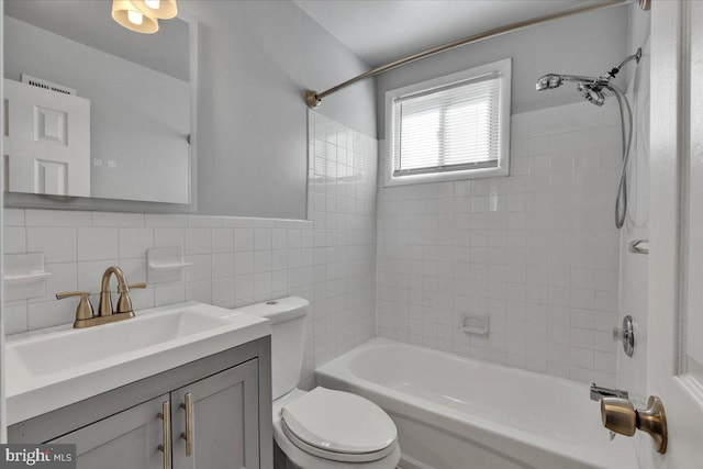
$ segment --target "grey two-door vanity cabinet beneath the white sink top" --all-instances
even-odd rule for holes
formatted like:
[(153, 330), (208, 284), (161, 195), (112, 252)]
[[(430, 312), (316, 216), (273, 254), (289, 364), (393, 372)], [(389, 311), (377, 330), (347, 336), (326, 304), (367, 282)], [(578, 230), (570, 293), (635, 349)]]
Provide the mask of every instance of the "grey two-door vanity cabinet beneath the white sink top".
[(12, 425), (9, 440), (76, 444), (78, 469), (271, 468), (270, 337)]

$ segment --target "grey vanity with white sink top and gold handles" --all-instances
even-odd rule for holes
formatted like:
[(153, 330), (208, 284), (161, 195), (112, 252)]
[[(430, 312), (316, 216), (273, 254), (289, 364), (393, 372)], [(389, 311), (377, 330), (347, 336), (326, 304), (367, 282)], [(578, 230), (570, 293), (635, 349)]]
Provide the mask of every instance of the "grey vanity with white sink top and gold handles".
[(272, 466), (270, 324), (188, 302), (7, 340), (9, 443), (79, 468)]

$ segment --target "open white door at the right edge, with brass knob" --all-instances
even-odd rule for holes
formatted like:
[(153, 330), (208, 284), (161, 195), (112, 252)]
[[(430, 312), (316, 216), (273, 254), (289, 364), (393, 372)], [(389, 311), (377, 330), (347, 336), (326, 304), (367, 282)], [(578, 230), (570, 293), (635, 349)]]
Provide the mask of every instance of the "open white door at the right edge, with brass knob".
[[(644, 468), (703, 468), (703, 2), (651, 8), (647, 392), (663, 402), (666, 455)], [(648, 437), (645, 437), (648, 439)]]

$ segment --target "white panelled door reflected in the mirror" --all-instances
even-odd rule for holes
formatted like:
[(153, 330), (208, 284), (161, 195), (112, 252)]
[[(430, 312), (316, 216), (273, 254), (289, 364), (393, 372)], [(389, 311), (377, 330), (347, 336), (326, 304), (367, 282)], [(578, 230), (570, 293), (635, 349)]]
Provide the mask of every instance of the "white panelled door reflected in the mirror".
[(90, 197), (90, 101), (4, 79), (5, 190)]

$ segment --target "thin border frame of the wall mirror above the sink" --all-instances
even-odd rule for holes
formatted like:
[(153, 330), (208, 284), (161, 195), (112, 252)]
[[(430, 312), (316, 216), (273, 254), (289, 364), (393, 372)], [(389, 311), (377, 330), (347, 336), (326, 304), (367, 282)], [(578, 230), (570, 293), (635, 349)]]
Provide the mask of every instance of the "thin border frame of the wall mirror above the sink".
[[(198, 211), (198, 53), (200, 48), (198, 21), (181, 11), (176, 16), (188, 23), (188, 65), (190, 70), (190, 203), (146, 202), (126, 199), (46, 196), (24, 192), (3, 192), (3, 206), (14, 209), (82, 210), (98, 212), (196, 213)], [(4, 12), (0, 18), (4, 24)], [(0, 29), (3, 31), (4, 27)], [(137, 33), (134, 33), (137, 34)], [(158, 34), (158, 33), (157, 33)]]

